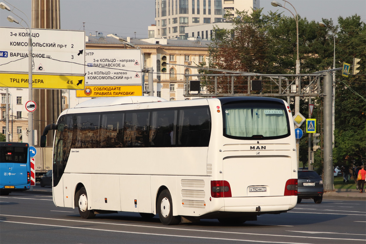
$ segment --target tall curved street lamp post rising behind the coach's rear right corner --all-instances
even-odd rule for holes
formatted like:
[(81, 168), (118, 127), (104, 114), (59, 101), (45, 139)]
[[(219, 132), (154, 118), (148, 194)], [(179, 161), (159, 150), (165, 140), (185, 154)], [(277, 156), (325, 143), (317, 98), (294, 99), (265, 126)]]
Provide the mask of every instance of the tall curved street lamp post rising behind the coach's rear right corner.
[[(294, 8), (296, 16), (291, 12), (291, 10), (289, 10), (288, 8), (285, 8), (285, 6), (282, 6), (282, 4), (280, 4), (277, 1), (272, 1), (271, 2), (271, 5), (274, 6), (274, 7), (278, 7), (278, 6), (279, 7), (282, 7), (284, 9), (290, 11), (290, 13), (292, 14), (292, 16), (294, 16), (294, 19), (295, 19), (295, 22), (296, 22), (296, 74), (300, 74), (300, 59), (299, 59), (299, 17), (298, 17), (298, 13), (297, 13), (295, 7), (290, 2), (288, 2), (286, 0), (282, 0), (282, 1), (285, 1), (286, 3), (290, 4), (292, 6), (292, 8)], [(299, 77), (298, 76), (295, 79), (295, 85), (296, 85), (296, 92), (299, 92), (300, 91), (300, 87), (299, 87)], [(299, 112), (299, 110), (300, 110), (300, 97), (299, 96), (295, 96), (295, 114), (297, 112)], [(298, 163), (298, 167), (299, 167), (299, 141), (298, 140), (296, 140), (296, 152), (297, 152), (297, 161), (298, 161), (297, 163)]]

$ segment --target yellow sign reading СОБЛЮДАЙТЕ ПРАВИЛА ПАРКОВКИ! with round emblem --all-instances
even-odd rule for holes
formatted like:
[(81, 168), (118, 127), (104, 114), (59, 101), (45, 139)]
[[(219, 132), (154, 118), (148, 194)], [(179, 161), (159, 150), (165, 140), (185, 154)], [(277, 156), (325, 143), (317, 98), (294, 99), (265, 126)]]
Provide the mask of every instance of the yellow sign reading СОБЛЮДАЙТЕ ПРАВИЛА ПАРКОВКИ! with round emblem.
[(76, 91), (76, 97), (142, 96), (142, 86), (86, 86)]

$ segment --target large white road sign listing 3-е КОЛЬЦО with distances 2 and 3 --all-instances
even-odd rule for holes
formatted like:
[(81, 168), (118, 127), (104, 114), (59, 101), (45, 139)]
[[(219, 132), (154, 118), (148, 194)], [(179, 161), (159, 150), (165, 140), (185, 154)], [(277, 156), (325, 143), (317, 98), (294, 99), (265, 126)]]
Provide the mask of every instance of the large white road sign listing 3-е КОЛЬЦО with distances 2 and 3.
[[(28, 72), (27, 31), (0, 27), (0, 37), (0, 72)], [(32, 52), (34, 74), (85, 74), (85, 31), (32, 29)]]

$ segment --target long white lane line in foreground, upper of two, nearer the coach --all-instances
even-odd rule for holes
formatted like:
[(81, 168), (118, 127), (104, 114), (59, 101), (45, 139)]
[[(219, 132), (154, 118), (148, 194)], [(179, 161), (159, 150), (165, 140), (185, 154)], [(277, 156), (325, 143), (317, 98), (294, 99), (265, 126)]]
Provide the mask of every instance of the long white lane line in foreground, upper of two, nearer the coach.
[[(288, 213), (291, 213), (291, 212), (288, 212)], [(107, 223), (107, 222), (96, 222), (96, 221), (85, 221), (85, 220), (74, 220), (74, 219), (43, 218), (43, 217), (19, 216), (19, 215), (8, 215), (8, 214), (0, 214), (0, 216), (21, 217), (21, 218), (36, 218), (36, 219), (51, 219), (51, 220), (82, 222), (82, 223), (90, 223), (90, 224), (122, 225), (122, 226), (133, 226), (133, 227), (143, 227), (143, 228), (155, 228), (155, 229), (184, 230), (184, 231), (189, 230), (189, 231), (196, 231), (196, 232), (213, 232), (213, 230), (197, 230), (197, 229), (184, 229), (184, 228), (169, 228), (169, 227), (163, 227), (163, 226), (117, 224), (117, 223)], [(28, 223), (25, 223), (25, 224), (28, 224)], [(288, 235), (275, 235), (275, 234), (262, 234), (262, 233), (228, 232), (228, 231), (218, 231), (218, 230), (214, 230), (214, 232), (224, 233), (224, 234), (247, 234), (247, 235), (254, 235), (254, 236), (299, 237), (299, 238), (329, 239), (329, 240), (358, 240), (358, 239), (340, 239), (340, 238), (313, 237), (313, 236), (288, 236)], [(359, 241), (364, 241), (364, 240), (361, 239)], [(272, 243), (273, 243), (273, 241), (272, 241)]]

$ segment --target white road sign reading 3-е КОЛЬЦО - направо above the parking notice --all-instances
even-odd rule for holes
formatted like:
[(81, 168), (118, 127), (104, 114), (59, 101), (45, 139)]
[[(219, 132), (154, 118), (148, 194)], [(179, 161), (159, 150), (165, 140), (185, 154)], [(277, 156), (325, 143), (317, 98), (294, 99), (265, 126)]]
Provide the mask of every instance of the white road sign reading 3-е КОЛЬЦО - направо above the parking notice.
[(87, 49), (85, 86), (142, 85), (139, 49)]

